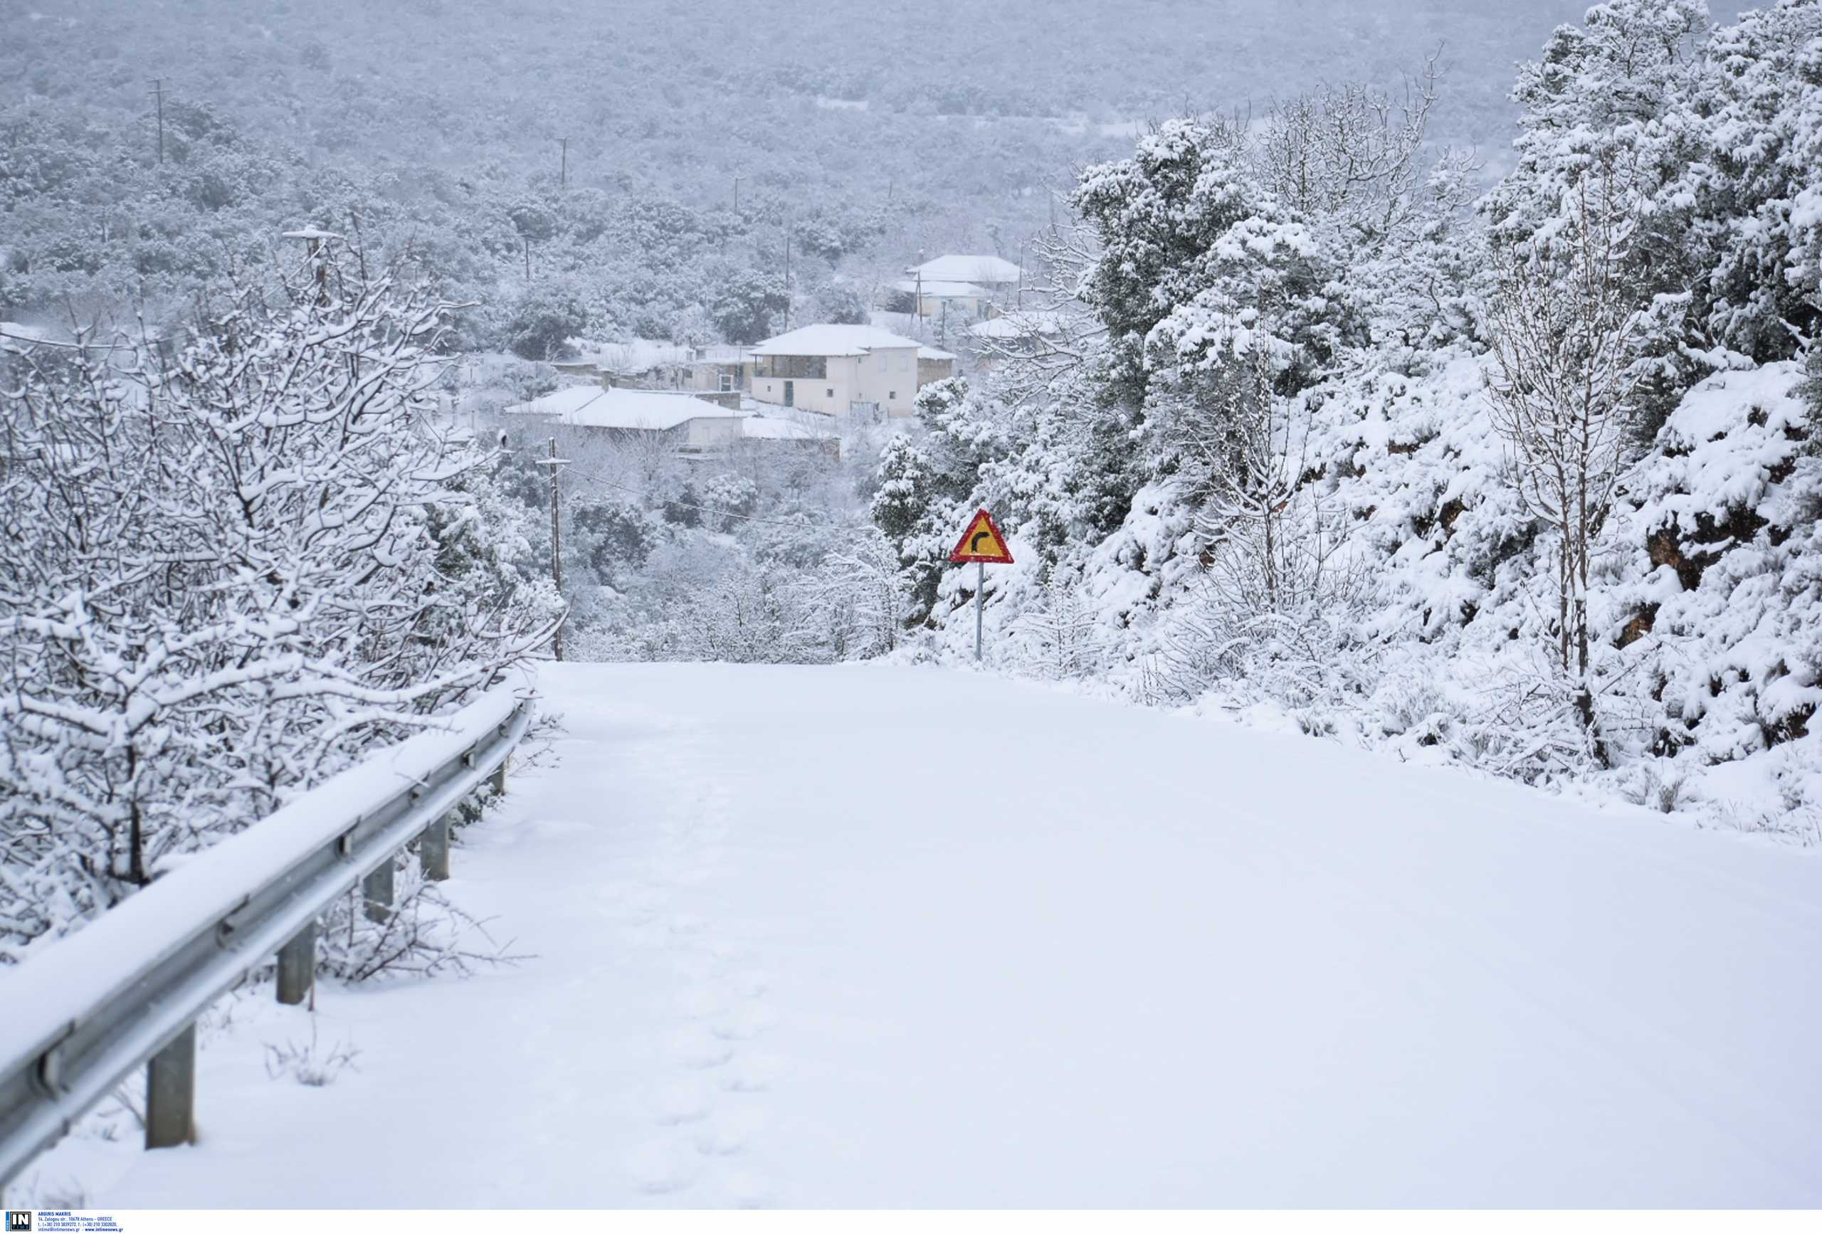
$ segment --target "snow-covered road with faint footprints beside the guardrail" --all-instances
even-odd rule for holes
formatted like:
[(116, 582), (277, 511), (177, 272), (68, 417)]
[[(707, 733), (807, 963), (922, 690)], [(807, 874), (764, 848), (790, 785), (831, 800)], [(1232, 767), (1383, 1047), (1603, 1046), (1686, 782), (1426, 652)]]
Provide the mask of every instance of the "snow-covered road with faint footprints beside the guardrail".
[(967, 673), (543, 687), (450, 884), (536, 959), (206, 1050), (93, 1201), (1822, 1205), (1811, 857)]

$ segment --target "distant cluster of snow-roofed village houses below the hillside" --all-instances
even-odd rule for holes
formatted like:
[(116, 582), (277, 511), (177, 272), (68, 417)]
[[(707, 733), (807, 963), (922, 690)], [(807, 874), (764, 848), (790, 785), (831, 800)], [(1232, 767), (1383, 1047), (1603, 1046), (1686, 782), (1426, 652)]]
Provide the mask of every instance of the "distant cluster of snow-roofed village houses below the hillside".
[(554, 361), (572, 385), (505, 410), (527, 423), (654, 439), (683, 456), (738, 443), (840, 454), (847, 432), (911, 416), (918, 390), (964, 363), (980, 368), (1042, 346), (1055, 315), (1020, 308), (1022, 281), (1002, 257), (946, 253), (906, 268), (865, 324), (820, 321), (749, 346), (581, 344), (576, 359)]

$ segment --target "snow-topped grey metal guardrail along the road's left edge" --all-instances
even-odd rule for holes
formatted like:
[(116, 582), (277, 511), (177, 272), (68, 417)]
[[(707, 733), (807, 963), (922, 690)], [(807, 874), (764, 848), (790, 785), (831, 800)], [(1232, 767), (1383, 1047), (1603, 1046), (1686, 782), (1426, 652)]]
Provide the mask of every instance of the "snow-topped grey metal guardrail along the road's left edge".
[(530, 722), (528, 698), (486, 694), (0, 973), (0, 1183), (142, 1063), (146, 1147), (189, 1143), (197, 1015), (273, 955), (279, 1001), (301, 1003), (317, 919), (363, 884), (366, 915), (383, 920), (394, 859), (414, 838), (425, 875), (446, 879), (450, 813), (488, 776), (505, 791)]

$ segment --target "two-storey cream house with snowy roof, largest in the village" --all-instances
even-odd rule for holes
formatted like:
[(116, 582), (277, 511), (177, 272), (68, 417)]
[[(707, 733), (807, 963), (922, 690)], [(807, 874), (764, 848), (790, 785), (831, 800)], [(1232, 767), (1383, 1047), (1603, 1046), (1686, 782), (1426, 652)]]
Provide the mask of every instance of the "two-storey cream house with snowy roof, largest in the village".
[(909, 416), (918, 386), (918, 341), (878, 326), (818, 324), (749, 348), (752, 397), (824, 416)]

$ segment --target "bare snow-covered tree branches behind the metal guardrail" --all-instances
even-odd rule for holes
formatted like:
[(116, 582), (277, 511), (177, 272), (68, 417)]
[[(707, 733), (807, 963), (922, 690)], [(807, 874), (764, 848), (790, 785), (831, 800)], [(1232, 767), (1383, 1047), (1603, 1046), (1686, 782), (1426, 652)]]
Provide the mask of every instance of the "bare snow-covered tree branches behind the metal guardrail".
[(0, 957), (456, 705), (548, 636), (446, 312), (324, 255), (193, 343), (0, 355)]

